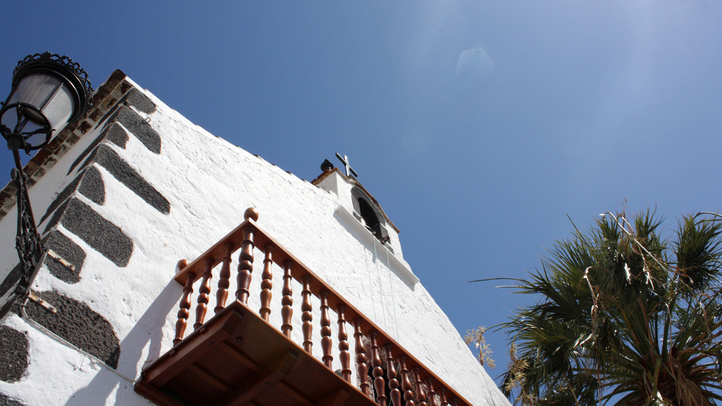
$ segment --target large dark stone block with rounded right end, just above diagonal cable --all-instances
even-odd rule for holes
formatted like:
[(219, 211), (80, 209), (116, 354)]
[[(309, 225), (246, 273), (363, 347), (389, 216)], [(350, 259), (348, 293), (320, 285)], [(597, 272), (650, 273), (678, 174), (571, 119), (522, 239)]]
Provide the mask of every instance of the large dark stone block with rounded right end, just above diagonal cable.
[(25, 312), (30, 319), (38, 321), (46, 329), (86, 353), (100, 358), (108, 366), (118, 367), (120, 341), (108, 320), (85, 303), (67, 298), (54, 290), (40, 292), (38, 295), (55, 306), (58, 312), (53, 313), (38, 303), (28, 301)]

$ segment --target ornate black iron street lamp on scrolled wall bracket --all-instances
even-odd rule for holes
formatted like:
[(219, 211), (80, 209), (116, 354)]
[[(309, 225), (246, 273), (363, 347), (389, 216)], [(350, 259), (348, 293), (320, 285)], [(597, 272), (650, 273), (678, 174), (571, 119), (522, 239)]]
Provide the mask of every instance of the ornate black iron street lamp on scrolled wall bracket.
[(45, 147), (57, 129), (84, 116), (92, 104), (92, 92), (87, 73), (67, 56), (49, 52), (28, 55), (12, 72), (12, 89), (0, 108), (0, 132), (15, 160), (11, 176), (17, 186), (15, 248), (22, 269), (15, 293), (19, 295), (30, 289), (45, 256), (19, 150), (29, 155), (31, 150)]

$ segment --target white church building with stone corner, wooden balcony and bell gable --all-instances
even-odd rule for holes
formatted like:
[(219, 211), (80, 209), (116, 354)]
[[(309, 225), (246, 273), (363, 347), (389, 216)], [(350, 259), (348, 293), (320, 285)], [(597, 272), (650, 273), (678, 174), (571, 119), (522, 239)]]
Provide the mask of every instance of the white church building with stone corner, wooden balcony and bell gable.
[(25, 166), (27, 300), (0, 191), (0, 405), (509, 405), (347, 168), (297, 178), (120, 71), (93, 104)]

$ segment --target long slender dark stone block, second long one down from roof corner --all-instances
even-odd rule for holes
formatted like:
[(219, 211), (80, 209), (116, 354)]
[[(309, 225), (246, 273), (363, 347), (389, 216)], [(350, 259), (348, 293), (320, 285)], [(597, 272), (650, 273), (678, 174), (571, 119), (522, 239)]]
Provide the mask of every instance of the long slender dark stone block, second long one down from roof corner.
[(118, 153), (113, 151), (113, 148), (105, 144), (99, 145), (83, 165), (89, 165), (92, 162), (96, 162), (107, 169), (114, 178), (121, 181), (128, 189), (134, 191), (135, 194), (148, 202), (152, 207), (155, 207), (155, 210), (165, 215), (170, 213), (170, 202), (168, 202), (168, 199), (165, 199), (165, 197), (140, 176), (131, 165), (128, 165)]

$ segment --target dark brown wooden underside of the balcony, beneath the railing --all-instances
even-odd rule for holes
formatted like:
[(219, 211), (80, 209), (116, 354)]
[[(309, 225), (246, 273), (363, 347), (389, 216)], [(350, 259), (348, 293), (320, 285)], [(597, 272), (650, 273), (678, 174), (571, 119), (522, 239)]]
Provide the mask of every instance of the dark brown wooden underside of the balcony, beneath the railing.
[(135, 390), (163, 406), (376, 405), (239, 301), (145, 368)]

